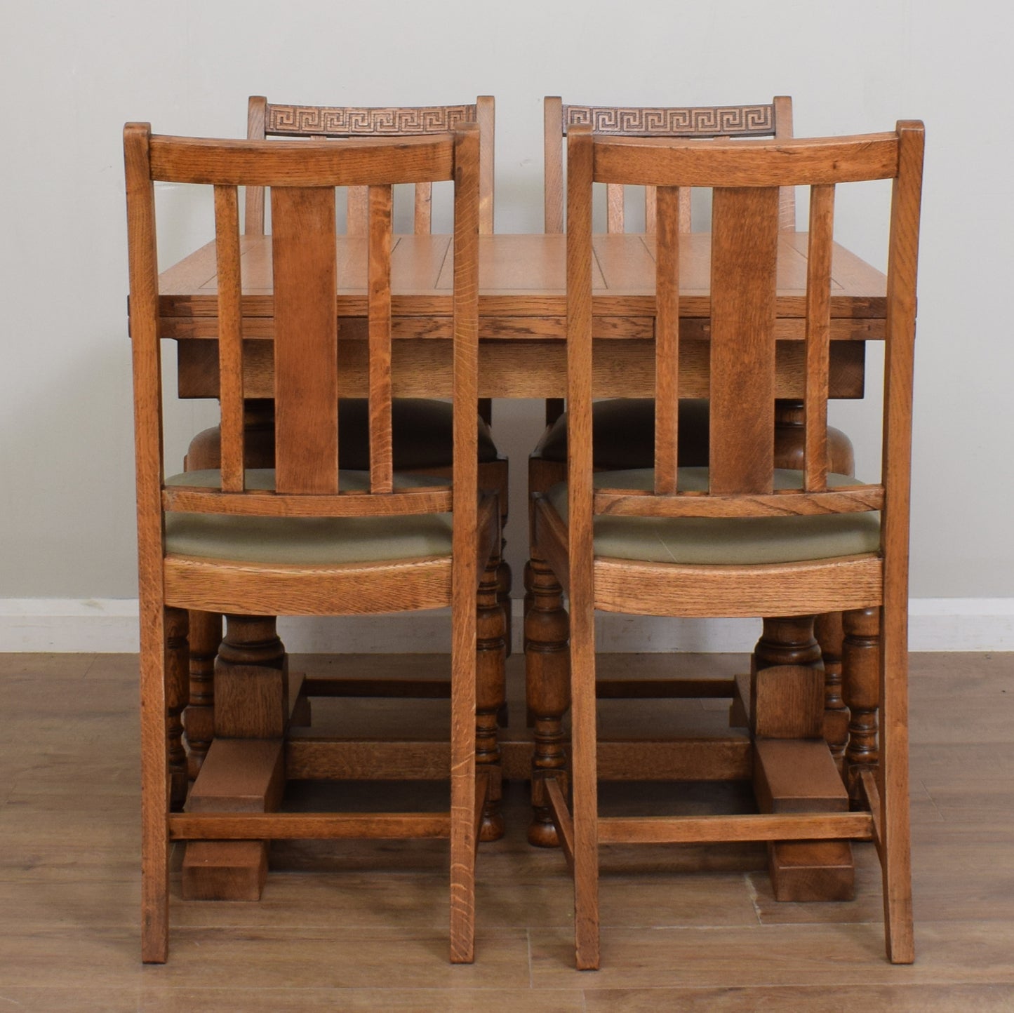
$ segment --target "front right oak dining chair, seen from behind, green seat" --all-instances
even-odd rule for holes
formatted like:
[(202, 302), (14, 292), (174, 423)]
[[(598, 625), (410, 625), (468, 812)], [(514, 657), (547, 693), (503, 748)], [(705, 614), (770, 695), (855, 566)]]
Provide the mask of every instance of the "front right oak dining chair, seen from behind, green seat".
[[(882, 867), (887, 956), (914, 959), (908, 784), (908, 568), (916, 269), (924, 131), (778, 142), (685, 144), (568, 139), (567, 399), (569, 478), (537, 497), (533, 552), (570, 598), (573, 804), (548, 795), (575, 884), (577, 965), (599, 963), (598, 846), (733, 841), (872, 840)], [(884, 333), (883, 456), (878, 482), (827, 467), (831, 250), (837, 187), (891, 179)], [(654, 466), (594, 473), (591, 195), (593, 182), (656, 185)], [(679, 190), (714, 188), (711, 242), (711, 440), (708, 466), (679, 459)], [(779, 188), (810, 191), (805, 295), (805, 450), (776, 467), (774, 442)], [(820, 805), (805, 776), (832, 788), (823, 685), (805, 665), (755, 670), (739, 692), (753, 749), (757, 813), (600, 816), (595, 708), (596, 609), (642, 616), (793, 617), (845, 612), (866, 645), (845, 678), (879, 677), (879, 742), (854, 757), (849, 795)], [(854, 664), (858, 661), (858, 664)], [(876, 667), (873, 666), (874, 671)], [(821, 773), (822, 772), (822, 773)], [(832, 792), (834, 795), (834, 792)], [(824, 811), (816, 811), (823, 809)]]

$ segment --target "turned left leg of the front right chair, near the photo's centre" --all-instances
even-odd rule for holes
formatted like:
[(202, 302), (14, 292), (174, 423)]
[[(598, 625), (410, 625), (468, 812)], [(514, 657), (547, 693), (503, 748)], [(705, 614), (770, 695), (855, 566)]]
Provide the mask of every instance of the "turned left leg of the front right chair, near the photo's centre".
[(532, 817), (528, 842), (539, 848), (559, 846), (546, 791), (554, 777), (568, 790), (566, 736), (563, 718), (570, 708), (569, 624), (563, 588), (544, 560), (531, 559), (525, 573), (531, 607), (524, 619), (525, 693), (534, 722), (531, 762)]

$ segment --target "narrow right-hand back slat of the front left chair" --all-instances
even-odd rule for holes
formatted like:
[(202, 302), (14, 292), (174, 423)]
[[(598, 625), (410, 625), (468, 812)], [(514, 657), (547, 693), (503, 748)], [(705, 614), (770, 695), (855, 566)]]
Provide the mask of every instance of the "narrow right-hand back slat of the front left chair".
[(393, 489), (390, 432), (390, 216), (391, 188), (369, 189), (369, 440), (370, 490)]

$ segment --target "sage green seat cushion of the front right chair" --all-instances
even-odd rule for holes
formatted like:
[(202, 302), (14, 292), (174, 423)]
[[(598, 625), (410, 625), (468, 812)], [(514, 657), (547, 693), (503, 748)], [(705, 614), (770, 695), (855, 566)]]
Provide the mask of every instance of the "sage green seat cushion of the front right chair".
[[(681, 467), (681, 492), (705, 491), (708, 468)], [(597, 472), (596, 489), (651, 489), (652, 468)], [(856, 479), (828, 475), (828, 486), (855, 485)], [(802, 473), (776, 469), (776, 489), (798, 489)], [(549, 491), (567, 519), (567, 483)], [(648, 563), (749, 565), (794, 563), (875, 553), (880, 549), (880, 514), (843, 513), (807, 517), (613, 517), (595, 518), (595, 555)]]

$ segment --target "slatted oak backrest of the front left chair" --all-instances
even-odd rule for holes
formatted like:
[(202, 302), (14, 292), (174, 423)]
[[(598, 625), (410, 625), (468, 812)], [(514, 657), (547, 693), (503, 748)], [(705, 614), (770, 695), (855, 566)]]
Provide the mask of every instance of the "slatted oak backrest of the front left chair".
[[(130, 250), (138, 504), (142, 540), (161, 537), (161, 509), (264, 516), (345, 516), (447, 510), (446, 488), (394, 491), (391, 471), (391, 188), (453, 180), (455, 408), (474, 406), (478, 350), (479, 131), (349, 143), (221, 141), (124, 135)], [(218, 278), (221, 490), (163, 490), (162, 396), (154, 182), (211, 185)], [(246, 489), (239, 187), (270, 189), (274, 273), (274, 491)], [(368, 188), (369, 491), (339, 492), (335, 188)], [(263, 297), (262, 297), (263, 298)], [(475, 519), (477, 422), (454, 412), (453, 506)], [(457, 537), (455, 525), (455, 539)], [(456, 544), (455, 544), (456, 548)]]

